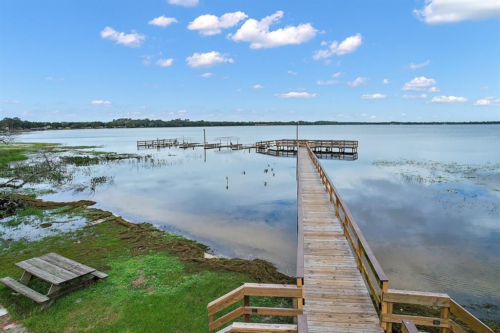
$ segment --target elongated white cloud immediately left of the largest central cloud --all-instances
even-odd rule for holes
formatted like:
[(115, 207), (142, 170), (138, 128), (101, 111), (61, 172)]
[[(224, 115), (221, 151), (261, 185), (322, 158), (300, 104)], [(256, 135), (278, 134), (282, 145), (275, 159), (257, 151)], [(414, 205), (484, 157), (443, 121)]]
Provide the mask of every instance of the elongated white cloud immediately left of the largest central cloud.
[(197, 30), (203, 36), (219, 34), (222, 29), (236, 25), (240, 20), (248, 17), (242, 11), (226, 12), (220, 17), (204, 14), (189, 22), (189, 30)]

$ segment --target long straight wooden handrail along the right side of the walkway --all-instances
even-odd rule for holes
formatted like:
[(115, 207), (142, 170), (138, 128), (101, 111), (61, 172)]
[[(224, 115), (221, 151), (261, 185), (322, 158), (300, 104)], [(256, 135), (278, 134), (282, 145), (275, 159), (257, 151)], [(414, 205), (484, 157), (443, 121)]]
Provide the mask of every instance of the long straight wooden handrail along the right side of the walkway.
[[(368, 242), (364, 238), (361, 230), (359, 229), (356, 221), (354, 220), (354, 217), (352, 217), (349, 208), (347, 208), (347, 205), (344, 203), (342, 197), (338, 193), (338, 190), (333, 185), (333, 182), (331, 181), (330, 177), (324, 171), (323, 165), (321, 164), (317, 156), (314, 154), (314, 152), (311, 150), (308, 143), (305, 144), (305, 147), (307, 148), (307, 152), (309, 153), (309, 156), (312, 159), (312, 162), (316, 167), (317, 172), (319, 173), (321, 181), (325, 186), (326, 192), (330, 196), (330, 202), (335, 206), (335, 214), (340, 220), (344, 230), (344, 235), (349, 240), (350, 245), (356, 256), (357, 268), (365, 277), (368, 287), (370, 288), (371, 294), (375, 299), (378, 307), (380, 307), (382, 305), (381, 304), (382, 293), (384, 290), (387, 290), (388, 288), (387, 276), (383, 272), (382, 267), (380, 266), (375, 255), (371, 251)], [(350, 231), (352, 231), (353, 235), (351, 235)], [(356, 242), (354, 242), (353, 237), (356, 239)], [(375, 285), (370, 277), (370, 274), (368, 273), (368, 270), (364, 265), (363, 256), (366, 258), (368, 266), (370, 267), (370, 270), (378, 283), (378, 286), (380, 288), (379, 292), (376, 290)]]

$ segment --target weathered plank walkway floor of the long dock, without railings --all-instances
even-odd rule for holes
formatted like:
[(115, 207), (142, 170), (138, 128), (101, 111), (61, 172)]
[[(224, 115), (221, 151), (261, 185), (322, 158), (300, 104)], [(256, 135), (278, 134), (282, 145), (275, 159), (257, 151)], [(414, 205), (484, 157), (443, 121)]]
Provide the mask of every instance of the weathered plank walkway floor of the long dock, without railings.
[(310, 159), (298, 148), (304, 237), (303, 314), (309, 332), (382, 332), (380, 320)]

